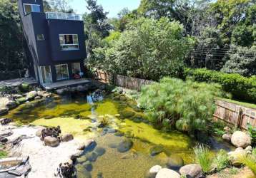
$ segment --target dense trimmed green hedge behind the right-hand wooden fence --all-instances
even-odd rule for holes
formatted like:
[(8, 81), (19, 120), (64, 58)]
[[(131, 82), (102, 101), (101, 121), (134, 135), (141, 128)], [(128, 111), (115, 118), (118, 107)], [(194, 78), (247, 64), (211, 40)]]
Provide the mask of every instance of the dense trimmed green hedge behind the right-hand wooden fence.
[(185, 76), (199, 82), (220, 83), (223, 90), (232, 94), (232, 98), (256, 103), (256, 76), (246, 78), (239, 74), (221, 73), (205, 68), (186, 69)]

